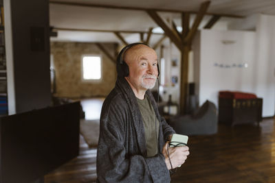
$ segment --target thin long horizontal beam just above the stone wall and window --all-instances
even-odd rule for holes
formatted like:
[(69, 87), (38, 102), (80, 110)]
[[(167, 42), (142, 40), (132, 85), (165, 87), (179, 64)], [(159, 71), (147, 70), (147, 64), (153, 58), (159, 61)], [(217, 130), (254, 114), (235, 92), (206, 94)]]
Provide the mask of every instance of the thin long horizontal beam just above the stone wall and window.
[[(152, 28), (153, 29), (153, 28)], [(53, 30), (61, 30), (61, 31), (77, 31), (77, 32), (120, 32), (120, 33), (126, 33), (126, 34), (148, 34), (146, 31), (127, 31), (127, 30), (103, 30), (103, 29), (74, 29), (74, 28), (62, 28), (62, 27), (54, 27)], [(157, 34), (157, 35), (163, 35), (162, 33), (153, 33), (151, 34)]]

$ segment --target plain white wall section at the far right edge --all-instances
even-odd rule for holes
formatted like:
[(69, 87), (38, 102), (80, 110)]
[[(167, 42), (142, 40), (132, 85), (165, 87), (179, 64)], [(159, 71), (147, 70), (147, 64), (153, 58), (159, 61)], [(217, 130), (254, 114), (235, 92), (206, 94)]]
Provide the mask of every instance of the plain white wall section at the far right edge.
[(263, 116), (272, 116), (275, 107), (275, 16), (258, 17), (254, 68), (257, 78), (254, 89), (263, 97)]

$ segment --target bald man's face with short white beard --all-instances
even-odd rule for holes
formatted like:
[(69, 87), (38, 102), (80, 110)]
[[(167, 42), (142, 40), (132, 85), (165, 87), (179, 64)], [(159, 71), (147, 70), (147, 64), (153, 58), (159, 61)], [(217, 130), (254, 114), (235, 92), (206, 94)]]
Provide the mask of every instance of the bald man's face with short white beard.
[(145, 45), (137, 45), (127, 51), (124, 58), (129, 66), (126, 79), (135, 90), (147, 90), (155, 86), (157, 79), (157, 54)]

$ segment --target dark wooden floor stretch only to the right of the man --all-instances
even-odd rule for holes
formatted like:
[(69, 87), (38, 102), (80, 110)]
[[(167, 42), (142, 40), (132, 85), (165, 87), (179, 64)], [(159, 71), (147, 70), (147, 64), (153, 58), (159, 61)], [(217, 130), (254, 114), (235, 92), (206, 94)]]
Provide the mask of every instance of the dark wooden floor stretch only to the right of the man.
[(190, 156), (171, 182), (275, 182), (274, 120), (219, 125), (213, 136), (191, 136)]

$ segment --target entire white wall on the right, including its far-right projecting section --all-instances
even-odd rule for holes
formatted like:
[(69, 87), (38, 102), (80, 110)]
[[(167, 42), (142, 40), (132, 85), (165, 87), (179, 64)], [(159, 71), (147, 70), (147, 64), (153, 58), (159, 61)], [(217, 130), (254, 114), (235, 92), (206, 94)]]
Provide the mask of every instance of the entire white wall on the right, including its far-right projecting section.
[[(274, 45), (275, 16), (259, 15), (256, 32), (199, 32), (194, 42), (199, 104), (208, 99), (217, 105), (219, 90), (239, 90), (263, 97), (263, 117), (273, 116)], [(248, 64), (248, 67), (239, 67), (239, 64)]]

